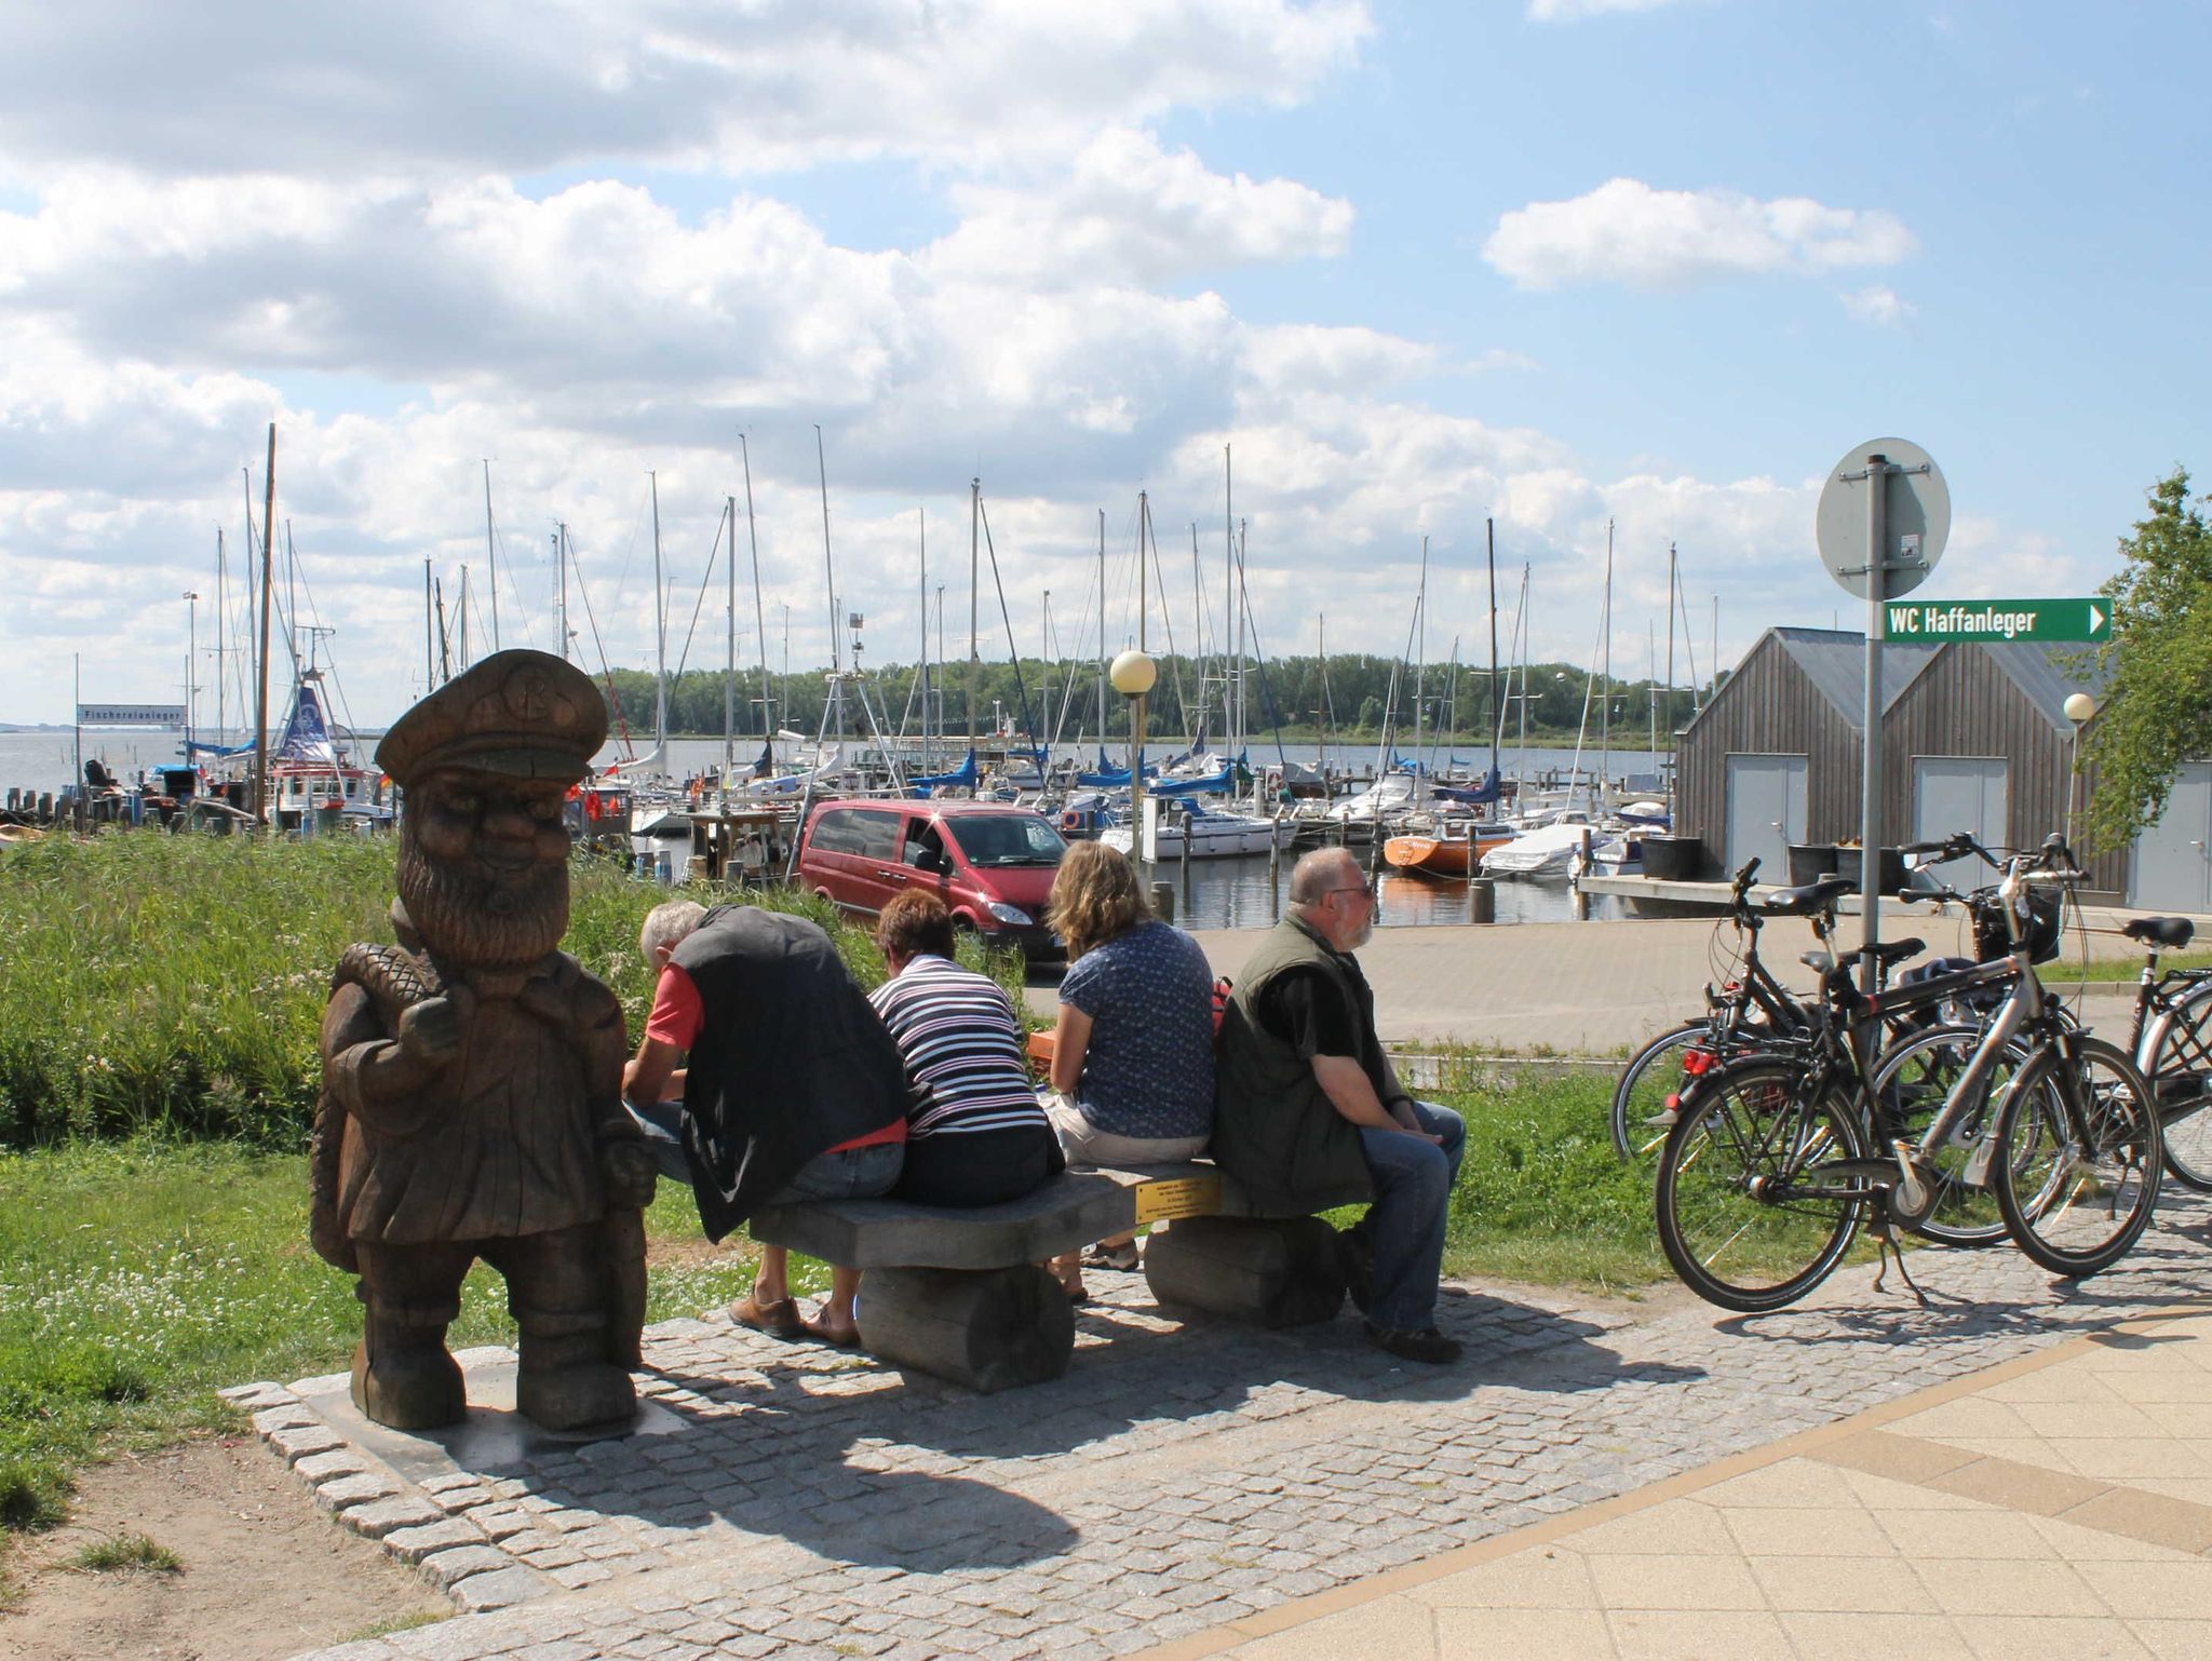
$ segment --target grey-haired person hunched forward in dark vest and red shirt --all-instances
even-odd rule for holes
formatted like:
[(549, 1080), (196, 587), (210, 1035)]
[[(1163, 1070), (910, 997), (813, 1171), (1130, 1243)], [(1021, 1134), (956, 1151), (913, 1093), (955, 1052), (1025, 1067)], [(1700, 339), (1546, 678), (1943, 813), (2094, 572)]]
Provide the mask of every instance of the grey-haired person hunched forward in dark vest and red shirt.
[[(661, 1168), (690, 1181), (710, 1241), (761, 1205), (889, 1192), (905, 1155), (907, 1077), (818, 924), (670, 900), (646, 916), (639, 949), (661, 978), (622, 1099)], [(681, 1097), (664, 1099), (672, 1086)], [(787, 1272), (787, 1252), (763, 1245), (730, 1318), (776, 1338), (852, 1345), (860, 1272), (832, 1265), (814, 1320), (801, 1318)]]

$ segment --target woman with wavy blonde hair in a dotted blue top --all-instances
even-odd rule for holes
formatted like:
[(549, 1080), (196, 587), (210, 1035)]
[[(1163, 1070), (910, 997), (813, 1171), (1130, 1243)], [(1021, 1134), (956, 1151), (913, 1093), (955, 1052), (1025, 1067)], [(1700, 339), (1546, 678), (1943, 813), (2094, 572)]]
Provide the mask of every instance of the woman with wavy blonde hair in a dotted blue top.
[[(1068, 947), (1046, 1104), (1068, 1163), (1194, 1159), (1214, 1128), (1214, 982), (1199, 942), (1152, 916), (1137, 869), (1104, 843), (1068, 847), (1046, 920)], [(1091, 1261), (1133, 1270), (1137, 1241), (1099, 1241)], [(1073, 1252), (1053, 1272), (1084, 1296)]]

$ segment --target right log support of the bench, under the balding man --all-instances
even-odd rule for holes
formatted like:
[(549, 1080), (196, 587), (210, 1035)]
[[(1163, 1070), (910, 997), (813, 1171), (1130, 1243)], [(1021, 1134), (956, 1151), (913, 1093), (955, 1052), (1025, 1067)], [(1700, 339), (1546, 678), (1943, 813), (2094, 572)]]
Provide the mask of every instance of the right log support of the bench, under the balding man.
[(1146, 1241), (1144, 1278), (1159, 1303), (1261, 1327), (1329, 1320), (1345, 1303), (1336, 1230), (1318, 1216), (1181, 1216)]

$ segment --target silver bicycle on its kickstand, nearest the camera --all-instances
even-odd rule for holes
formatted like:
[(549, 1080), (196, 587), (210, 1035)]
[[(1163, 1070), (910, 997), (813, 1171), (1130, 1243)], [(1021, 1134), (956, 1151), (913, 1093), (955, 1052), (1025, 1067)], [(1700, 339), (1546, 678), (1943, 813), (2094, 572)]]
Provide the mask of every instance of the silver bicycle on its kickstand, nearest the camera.
[[(1966, 836), (1922, 852), (1997, 863)], [(1836, 1270), (1869, 1214), (1885, 1252), (1896, 1228), (1991, 1239), (1982, 1190), (2004, 1234), (2055, 1274), (2095, 1274), (2135, 1245), (2157, 1203), (2159, 1119), (2132, 1059), (2044, 995), (2035, 962), (2055, 955), (2059, 913), (2031, 907), (2031, 880), (2079, 880), (2064, 843), (2004, 860), (2004, 880), (1975, 896), (1978, 931), (2002, 929), (2008, 947), (1995, 962), (1869, 1000), (1849, 975), (1860, 953), (1807, 953), (1820, 997), (1801, 1053), (1730, 1062), (1683, 1101), (1652, 1203), (1668, 1263), (1692, 1292), (1745, 1314), (1796, 1303)], [(1783, 896), (1801, 905), (1820, 889)], [(1783, 896), (1770, 909), (1785, 909)], [(1865, 1070), (1885, 1013), (2000, 989), (1984, 1026), (1922, 1033), (1871, 1077)], [(1918, 1294), (1902, 1252), (1898, 1270)]]

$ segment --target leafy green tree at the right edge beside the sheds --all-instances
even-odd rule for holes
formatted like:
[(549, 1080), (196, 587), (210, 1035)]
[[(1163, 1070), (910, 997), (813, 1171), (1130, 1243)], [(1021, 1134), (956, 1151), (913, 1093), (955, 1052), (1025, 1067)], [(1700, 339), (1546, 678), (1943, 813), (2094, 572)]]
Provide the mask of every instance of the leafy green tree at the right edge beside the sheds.
[(2124, 537), (2104, 584), (2112, 639), (2095, 652), (2104, 710), (2088, 730), (2097, 790), (2088, 840), (2124, 847), (2166, 812), (2183, 761), (2212, 752), (2212, 526), (2190, 476), (2150, 487), (2150, 515)]

